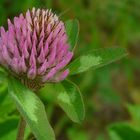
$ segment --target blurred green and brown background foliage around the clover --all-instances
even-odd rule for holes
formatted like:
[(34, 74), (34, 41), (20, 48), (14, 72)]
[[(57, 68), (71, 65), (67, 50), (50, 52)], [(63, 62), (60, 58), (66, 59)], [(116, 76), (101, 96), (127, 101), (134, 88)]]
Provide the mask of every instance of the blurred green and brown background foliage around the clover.
[[(7, 18), (32, 7), (51, 8), (64, 21), (79, 20), (75, 57), (103, 47), (126, 47), (129, 52), (116, 63), (71, 77), (80, 87), (86, 106), (81, 125), (74, 124), (53, 104), (51, 85), (40, 91), (57, 140), (140, 139), (140, 1), (0, 0), (0, 26), (6, 27)], [(18, 117), (6, 83), (0, 84), (0, 140), (14, 140)], [(34, 138), (30, 135), (28, 139)]]

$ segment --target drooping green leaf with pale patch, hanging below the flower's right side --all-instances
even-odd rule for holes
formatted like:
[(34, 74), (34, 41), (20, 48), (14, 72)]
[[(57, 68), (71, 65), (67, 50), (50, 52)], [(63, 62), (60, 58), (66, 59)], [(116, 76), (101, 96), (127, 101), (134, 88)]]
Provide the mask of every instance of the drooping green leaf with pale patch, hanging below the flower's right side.
[(63, 81), (62, 85), (64, 88), (57, 97), (58, 104), (72, 121), (80, 123), (85, 117), (85, 109), (80, 90), (68, 80)]

